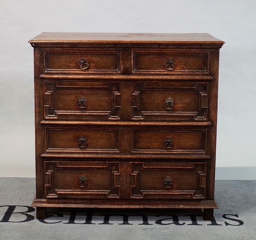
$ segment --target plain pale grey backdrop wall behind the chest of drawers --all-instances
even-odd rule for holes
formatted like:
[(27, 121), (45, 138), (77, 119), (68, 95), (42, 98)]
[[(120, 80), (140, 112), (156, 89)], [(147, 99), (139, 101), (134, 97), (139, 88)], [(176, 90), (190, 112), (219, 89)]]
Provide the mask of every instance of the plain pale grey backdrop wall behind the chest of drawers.
[(217, 179), (256, 179), (256, 1), (0, 0), (0, 176), (34, 177), (41, 32), (208, 32), (220, 52)]

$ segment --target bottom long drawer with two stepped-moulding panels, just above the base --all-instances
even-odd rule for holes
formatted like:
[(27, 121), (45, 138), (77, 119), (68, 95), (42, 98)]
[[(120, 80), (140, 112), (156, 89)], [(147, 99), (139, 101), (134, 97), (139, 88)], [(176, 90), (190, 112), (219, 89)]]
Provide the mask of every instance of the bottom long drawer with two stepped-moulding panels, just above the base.
[(47, 199), (203, 200), (206, 194), (206, 162), (51, 160), (44, 168)]

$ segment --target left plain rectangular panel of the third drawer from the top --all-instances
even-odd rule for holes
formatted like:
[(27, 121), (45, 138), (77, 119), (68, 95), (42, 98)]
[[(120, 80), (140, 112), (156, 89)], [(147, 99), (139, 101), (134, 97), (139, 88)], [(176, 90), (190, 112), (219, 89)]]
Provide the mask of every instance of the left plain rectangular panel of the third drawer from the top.
[(119, 129), (45, 127), (45, 152), (119, 153)]

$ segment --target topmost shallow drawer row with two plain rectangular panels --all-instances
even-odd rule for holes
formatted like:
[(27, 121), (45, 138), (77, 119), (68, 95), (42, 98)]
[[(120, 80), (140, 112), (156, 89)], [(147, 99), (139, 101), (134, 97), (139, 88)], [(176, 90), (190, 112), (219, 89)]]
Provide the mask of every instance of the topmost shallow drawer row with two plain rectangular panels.
[(58, 74), (121, 74), (121, 65), (131, 74), (202, 75), (209, 74), (208, 51), (132, 49), (44, 50), (44, 72)]

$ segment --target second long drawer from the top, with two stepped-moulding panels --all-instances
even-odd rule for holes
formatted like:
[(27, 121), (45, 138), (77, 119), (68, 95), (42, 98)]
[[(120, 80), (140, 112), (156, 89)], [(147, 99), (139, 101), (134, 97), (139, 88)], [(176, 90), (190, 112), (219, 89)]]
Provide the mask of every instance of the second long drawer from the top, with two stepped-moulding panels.
[[(208, 83), (44, 81), (44, 118), (58, 120), (206, 121)], [(131, 98), (131, 100), (130, 100)], [(121, 106), (123, 102), (123, 106)], [(130, 106), (127, 104), (131, 104)], [(125, 106), (126, 105), (126, 106)], [(120, 111), (131, 115), (122, 119)]]

